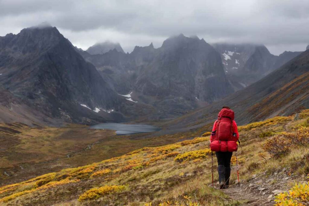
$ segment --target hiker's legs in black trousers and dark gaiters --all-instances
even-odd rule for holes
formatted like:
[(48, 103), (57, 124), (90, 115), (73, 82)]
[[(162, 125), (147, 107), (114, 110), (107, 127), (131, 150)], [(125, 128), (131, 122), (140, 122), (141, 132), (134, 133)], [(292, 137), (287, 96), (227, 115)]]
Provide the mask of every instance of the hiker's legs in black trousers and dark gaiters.
[(232, 155), (232, 152), (216, 152), (220, 184), (224, 183), (226, 185), (229, 185)]

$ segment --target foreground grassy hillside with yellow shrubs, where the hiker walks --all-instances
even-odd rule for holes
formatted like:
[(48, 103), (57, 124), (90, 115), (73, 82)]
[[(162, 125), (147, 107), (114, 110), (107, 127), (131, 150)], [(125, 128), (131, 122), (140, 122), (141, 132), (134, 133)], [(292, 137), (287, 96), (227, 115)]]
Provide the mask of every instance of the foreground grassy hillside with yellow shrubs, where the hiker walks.
[[(211, 152), (207, 133), (206, 137), (144, 147), (87, 166), (2, 186), (0, 205), (231, 206), (249, 205), (254, 197), (257, 205), (271, 205), (274, 198), (270, 195), (276, 194), (275, 188), (285, 191), (295, 182), (306, 180), (309, 173), (308, 126), (309, 110), (304, 110), (297, 120), (294, 116), (274, 117), (240, 126), (241, 185), (227, 189), (226, 194), (224, 190), (210, 187)], [(296, 132), (308, 145), (291, 142), (289, 138), (295, 137)], [(284, 138), (286, 145), (277, 147), (278, 138)], [(231, 183), (234, 183), (235, 157), (232, 163)], [(217, 179), (216, 172), (214, 174)], [(242, 191), (241, 198), (235, 196), (235, 191)]]

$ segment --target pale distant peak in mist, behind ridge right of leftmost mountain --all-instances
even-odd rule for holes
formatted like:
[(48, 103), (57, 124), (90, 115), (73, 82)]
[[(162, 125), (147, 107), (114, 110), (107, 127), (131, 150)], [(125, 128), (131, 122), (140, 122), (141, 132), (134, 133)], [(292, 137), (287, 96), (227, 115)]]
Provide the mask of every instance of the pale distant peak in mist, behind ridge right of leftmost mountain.
[(121, 48), (119, 43), (113, 43), (113, 42), (110, 42), (110, 41), (97, 43), (97, 44), (89, 47), (86, 50), (86, 52), (88, 52), (89, 54), (92, 54), (92, 55), (94, 55), (94, 54), (104, 54), (104, 53), (107, 53), (110, 50), (114, 50), (114, 49), (116, 49), (118, 52), (125, 53), (123, 51), (123, 49)]

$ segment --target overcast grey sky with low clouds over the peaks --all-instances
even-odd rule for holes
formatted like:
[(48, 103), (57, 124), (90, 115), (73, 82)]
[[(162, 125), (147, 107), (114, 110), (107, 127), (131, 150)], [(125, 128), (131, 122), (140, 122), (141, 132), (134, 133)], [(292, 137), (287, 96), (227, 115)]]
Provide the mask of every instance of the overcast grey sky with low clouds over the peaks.
[(180, 33), (276, 55), (309, 44), (308, 0), (0, 0), (0, 18), (0, 36), (48, 22), (83, 49), (110, 40), (131, 52)]

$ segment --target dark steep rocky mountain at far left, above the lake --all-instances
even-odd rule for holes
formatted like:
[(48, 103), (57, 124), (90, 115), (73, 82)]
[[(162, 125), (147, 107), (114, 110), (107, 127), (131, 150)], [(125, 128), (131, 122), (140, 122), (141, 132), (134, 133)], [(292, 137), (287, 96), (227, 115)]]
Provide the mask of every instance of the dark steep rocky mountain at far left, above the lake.
[(104, 121), (108, 117), (80, 104), (108, 110), (121, 102), (56, 27), (31, 27), (1, 37), (0, 74), (0, 85), (52, 117)]

